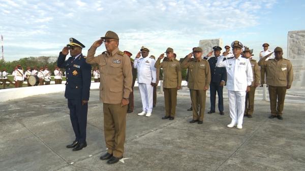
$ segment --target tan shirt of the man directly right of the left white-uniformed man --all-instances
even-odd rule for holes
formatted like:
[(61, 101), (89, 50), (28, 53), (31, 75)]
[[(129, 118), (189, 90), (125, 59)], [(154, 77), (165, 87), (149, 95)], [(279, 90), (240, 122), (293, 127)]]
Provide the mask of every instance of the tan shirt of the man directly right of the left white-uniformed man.
[(181, 87), (181, 67), (180, 63), (176, 59), (172, 59), (170, 61), (163, 61), (160, 63), (161, 59), (155, 63), (155, 67), (157, 70), (163, 68), (163, 88), (177, 88)]

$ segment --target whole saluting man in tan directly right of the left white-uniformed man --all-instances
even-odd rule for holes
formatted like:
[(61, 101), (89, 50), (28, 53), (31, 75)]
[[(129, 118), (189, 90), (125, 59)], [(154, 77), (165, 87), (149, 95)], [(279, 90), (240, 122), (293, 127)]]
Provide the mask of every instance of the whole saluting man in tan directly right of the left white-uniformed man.
[(167, 48), (167, 60), (161, 63), (164, 53), (161, 54), (155, 64), (157, 70), (163, 68), (163, 91), (165, 103), (165, 116), (162, 119), (173, 120), (176, 114), (177, 90), (181, 88), (181, 68), (178, 60), (174, 58), (174, 50)]

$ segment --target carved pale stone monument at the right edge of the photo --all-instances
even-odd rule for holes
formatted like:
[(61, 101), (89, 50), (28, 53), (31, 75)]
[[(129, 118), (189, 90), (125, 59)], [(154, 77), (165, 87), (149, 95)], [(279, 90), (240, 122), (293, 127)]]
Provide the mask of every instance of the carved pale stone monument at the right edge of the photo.
[(305, 87), (305, 30), (289, 31), (287, 59), (293, 66), (293, 87)]

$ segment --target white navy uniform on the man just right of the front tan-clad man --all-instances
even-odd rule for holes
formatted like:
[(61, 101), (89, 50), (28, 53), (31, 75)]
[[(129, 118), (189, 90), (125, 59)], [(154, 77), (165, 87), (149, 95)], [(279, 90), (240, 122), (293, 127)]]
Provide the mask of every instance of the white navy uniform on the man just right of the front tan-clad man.
[(139, 90), (143, 105), (142, 109), (146, 113), (153, 111), (154, 87), (150, 83), (156, 83), (155, 63), (155, 59), (151, 57), (136, 58), (134, 60), (134, 68), (138, 72)]

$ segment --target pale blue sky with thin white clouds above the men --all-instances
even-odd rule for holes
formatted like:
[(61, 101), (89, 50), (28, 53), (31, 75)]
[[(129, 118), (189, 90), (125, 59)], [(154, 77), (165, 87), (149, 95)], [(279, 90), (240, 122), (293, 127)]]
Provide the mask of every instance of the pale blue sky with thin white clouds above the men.
[[(9, 1), (0, 0), (0, 34), (5, 59), (57, 56), (69, 38), (86, 48), (115, 31), (119, 49), (136, 55), (141, 46), (158, 57), (167, 47), (184, 57), (201, 39), (239, 40), (254, 49), (279, 46), (286, 56), (287, 34), (305, 29), (305, 1)], [(102, 46), (98, 53), (105, 51)], [(133, 57), (134, 57), (133, 56)]]

